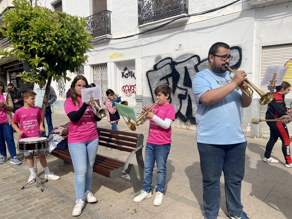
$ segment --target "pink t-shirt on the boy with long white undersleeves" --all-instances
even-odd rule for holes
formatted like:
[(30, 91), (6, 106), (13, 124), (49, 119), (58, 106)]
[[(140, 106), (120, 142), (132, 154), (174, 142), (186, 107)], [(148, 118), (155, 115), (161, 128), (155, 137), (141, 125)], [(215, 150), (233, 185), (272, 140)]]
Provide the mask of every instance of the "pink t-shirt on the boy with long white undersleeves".
[[(168, 103), (166, 105), (159, 105), (158, 110), (154, 113), (162, 120), (171, 119), (175, 120), (175, 109)], [(150, 119), (149, 135), (147, 142), (155, 145), (165, 145), (171, 143), (171, 126), (164, 129)]]

